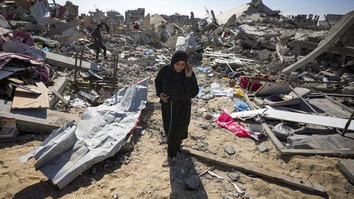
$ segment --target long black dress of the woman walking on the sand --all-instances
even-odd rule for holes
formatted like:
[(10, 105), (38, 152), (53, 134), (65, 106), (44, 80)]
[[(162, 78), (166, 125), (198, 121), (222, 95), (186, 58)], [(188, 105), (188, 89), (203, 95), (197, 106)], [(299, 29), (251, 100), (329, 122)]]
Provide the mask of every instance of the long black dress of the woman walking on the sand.
[(188, 137), (190, 123), (191, 98), (198, 94), (198, 81), (193, 73), (185, 76), (185, 71), (176, 72), (173, 66), (162, 67), (155, 79), (156, 95), (166, 93), (169, 101), (164, 103), (160, 99), (162, 121), (167, 139), (167, 154), (176, 157), (181, 151), (181, 140)]

